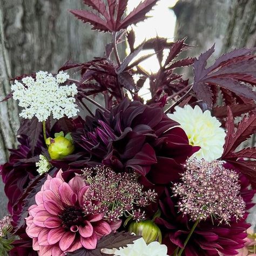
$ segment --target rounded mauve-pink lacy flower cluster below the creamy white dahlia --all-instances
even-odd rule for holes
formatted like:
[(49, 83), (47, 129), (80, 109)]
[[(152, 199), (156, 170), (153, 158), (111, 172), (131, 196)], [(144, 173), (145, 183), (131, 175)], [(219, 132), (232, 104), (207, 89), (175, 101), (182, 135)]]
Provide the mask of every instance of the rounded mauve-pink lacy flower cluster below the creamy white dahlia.
[(245, 214), (245, 202), (240, 196), (238, 174), (228, 170), (223, 161), (188, 160), (181, 183), (173, 186), (179, 196), (179, 210), (192, 220), (213, 217), (228, 224), (232, 217)]

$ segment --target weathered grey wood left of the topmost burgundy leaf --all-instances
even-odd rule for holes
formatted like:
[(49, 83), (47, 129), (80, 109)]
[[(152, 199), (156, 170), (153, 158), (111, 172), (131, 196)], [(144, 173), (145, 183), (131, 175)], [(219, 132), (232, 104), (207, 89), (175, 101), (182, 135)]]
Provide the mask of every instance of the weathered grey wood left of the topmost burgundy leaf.
[[(91, 31), (69, 9), (84, 8), (79, 0), (0, 0), (0, 98), (10, 92), (10, 77), (38, 70), (57, 72), (66, 60), (85, 62), (102, 56), (110, 37)], [(17, 104), (0, 105), (0, 164), (16, 147)], [(0, 217), (6, 212), (0, 184)]]

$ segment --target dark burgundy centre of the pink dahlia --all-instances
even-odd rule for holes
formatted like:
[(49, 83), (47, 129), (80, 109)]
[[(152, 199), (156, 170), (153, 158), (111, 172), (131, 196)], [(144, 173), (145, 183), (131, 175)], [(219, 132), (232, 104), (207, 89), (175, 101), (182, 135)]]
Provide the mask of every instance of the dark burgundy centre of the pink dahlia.
[(59, 218), (62, 220), (62, 226), (67, 229), (84, 223), (83, 210), (78, 206), (67, 206)]

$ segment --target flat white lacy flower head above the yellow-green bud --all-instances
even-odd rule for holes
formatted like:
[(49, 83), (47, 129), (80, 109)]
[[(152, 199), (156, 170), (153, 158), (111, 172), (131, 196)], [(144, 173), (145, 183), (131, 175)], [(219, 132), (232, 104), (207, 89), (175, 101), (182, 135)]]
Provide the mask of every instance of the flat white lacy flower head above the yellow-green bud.
[(46, 120), (51, 114), (53, 118), (60, 119), (64, 115), (73, 117), (79, 111), (76, 108), (77, 86), (75, 84), (62, 85), (69, 79), (69, 75), (60, 71), (56, 77), (51, 73), (39, 71), (36, 80), (25, 77), (22, 83), (15, 80), (11, 86), (13, 98), (23, 107), (19, 116), (31, 119), (37, 117), (39, 122)]

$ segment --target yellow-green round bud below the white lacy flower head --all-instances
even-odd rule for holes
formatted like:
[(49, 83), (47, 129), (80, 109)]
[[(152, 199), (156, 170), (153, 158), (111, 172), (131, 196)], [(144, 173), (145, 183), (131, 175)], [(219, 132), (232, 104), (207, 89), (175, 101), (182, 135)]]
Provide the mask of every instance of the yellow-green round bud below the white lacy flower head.
[(65, 137), (63, 132), (56, 133), (54, 139), (48, 138), (46, 140), (46, 144), (49, 145), (48, 152), (53, 160), (69, 156), (75, 150), (70, 133), (66, 134)]

